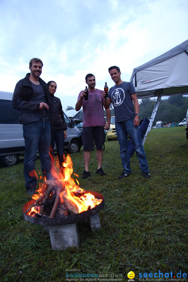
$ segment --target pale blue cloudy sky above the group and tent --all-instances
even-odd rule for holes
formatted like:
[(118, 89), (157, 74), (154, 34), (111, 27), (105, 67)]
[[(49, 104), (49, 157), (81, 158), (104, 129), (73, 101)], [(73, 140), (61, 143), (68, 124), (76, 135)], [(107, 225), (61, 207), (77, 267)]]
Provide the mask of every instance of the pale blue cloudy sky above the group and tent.
[(0, 0), (0, 11), (0, 91), (13, 92), (40, 58), (63, 110), (75, 107), (86, 74), (110, 88), (110, 66), (129, 81), (134, 67), (188, 39), (187, 0)]

